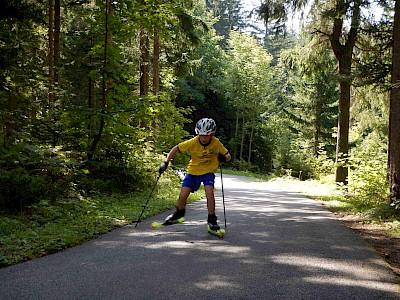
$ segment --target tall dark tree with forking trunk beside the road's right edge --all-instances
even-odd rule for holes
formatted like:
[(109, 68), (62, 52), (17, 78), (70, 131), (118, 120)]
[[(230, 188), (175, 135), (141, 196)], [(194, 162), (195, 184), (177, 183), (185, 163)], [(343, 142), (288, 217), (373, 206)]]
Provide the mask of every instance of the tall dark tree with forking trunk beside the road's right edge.
[[(272, 2), (275, 3), (275, 2)], [(279, 2), (276, 2), (279, 4)], [(302, 7), (305, 2), (288, 1), (294, 9)], [(320, 24), (313, 23), (313, 27), (320, 26), (315, 31), (328, 37), (332, 50), (338, 61), (339, 70), (339, 114), (338, 133), (336, 145), (336, 181), (347, 183), (348, 176), (348, 136), (350, 120), (350, 90), (353, 81), (352, 58), (357, 41), (358, 31), (362, 20), (361, 8), (368, 7), (369, 2), (360, 0), (352, 1), (328, 1), (325, 3), (313, 3), (311, 14), (314, 14), (314, 22), (320, 19)], [(272, 6), (273, 7), (273, 6)], [(269, 15), (271, 17), (271, 15)], [(277, 16), (279, 18), (279, 14)]]

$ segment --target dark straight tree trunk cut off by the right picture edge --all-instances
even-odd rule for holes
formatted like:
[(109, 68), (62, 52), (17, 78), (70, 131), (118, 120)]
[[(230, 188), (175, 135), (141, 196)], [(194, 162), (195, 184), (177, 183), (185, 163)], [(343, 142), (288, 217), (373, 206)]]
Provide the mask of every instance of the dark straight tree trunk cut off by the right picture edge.
[(400, 201), (400, 0), (396, 0), (393, 28), (392, 89), (389, 114), (390, 201)]

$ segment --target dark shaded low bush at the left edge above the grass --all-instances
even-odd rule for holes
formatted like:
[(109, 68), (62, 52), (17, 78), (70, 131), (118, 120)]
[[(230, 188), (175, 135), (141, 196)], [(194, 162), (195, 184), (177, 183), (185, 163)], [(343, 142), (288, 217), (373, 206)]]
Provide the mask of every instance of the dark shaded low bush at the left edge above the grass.
[(73, 163), (61, 159), (58, 152), (58, 148), (26, 143), (0, 149), (0, 208), (20, 210), (64, 194), (68, 190), (66, 174)]

